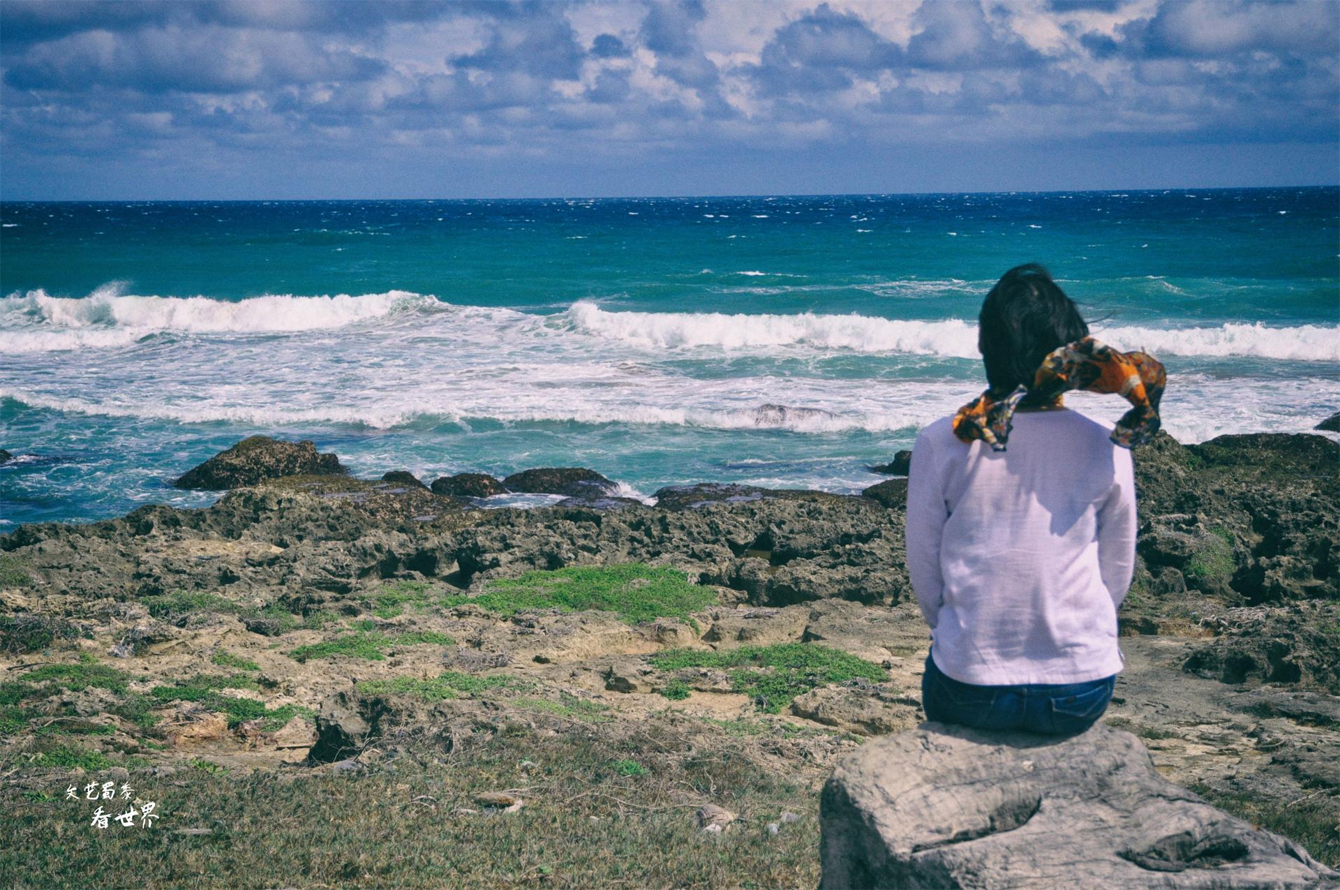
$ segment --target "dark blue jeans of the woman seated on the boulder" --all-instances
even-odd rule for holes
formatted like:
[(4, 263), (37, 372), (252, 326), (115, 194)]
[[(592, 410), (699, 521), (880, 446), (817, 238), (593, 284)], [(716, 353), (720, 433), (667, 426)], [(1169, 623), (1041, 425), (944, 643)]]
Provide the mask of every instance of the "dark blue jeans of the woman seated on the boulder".
[(1103, 716), (1115, 682), (1114, 676), (1083, 684), (974, 686), (946, 677), (927, 655), (922, 706), (926, 717), (937, 722), (1073, 736)]

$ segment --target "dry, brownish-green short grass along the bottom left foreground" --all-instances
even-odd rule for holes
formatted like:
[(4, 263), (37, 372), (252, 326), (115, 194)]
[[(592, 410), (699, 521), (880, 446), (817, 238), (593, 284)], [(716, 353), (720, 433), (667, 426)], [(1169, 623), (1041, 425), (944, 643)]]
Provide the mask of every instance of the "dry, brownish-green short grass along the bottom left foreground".
[[(98, 830), (94, 803), (64, 800), (66, 776), (51, 775), (0, 800), (11, 814), (0, 886), (812, 887), (815, 779), (779, 772), (741, 740), (504, 729), (355, 773), (133, 775), (163, 818)], [(525, 804), (488, 812), (482, 791)], [(705, 803), (741, 818), (720, 838), (704, 834), (694, 812)], [(785, 810), (801, 820), (770, 835)]]

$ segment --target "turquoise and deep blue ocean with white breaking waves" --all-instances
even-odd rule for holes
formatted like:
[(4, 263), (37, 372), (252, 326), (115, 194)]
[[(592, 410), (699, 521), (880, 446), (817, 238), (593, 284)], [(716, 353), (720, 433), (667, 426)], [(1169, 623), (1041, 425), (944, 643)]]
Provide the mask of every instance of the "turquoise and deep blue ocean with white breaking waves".
[(0, 531), (209, 504), (172, 480), (253, 433), (359, 474), (856, 492), (981, 391), (1026, 261), (1164, 361), (1179, 440), (1302, 432), (1340, 409), (1337, 244), (1335, 188), (4, 202)]

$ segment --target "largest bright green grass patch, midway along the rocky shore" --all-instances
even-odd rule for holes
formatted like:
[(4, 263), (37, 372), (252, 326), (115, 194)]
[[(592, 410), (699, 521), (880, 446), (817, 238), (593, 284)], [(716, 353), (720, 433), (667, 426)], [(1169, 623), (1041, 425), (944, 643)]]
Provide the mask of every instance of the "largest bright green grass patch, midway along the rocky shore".
[(630, 625), (657, 618), (683, 618), (717, 603), (710, 587), (693, 584), (674, 568), (643, 563), (574, 566), (529, 571), (520, 578), (490, 582), (478, 596), (446, 596), (442, 606), (473, 603), (511, 617), (529, 609), (572, 613), (596, 609)]

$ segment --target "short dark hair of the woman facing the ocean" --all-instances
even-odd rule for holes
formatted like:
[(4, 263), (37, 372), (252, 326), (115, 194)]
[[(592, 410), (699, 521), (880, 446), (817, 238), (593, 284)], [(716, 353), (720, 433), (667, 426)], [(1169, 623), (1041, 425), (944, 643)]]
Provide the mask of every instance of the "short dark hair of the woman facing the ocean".
[(1075, 303), (1037, 263), (1002, 275), (982, 302), (977, 323), (986, 382), (1000, 395), (1032, 385), (1037, 366), (1057, 346), (1088, 336)]

